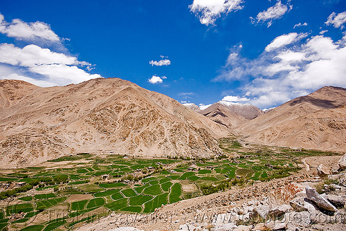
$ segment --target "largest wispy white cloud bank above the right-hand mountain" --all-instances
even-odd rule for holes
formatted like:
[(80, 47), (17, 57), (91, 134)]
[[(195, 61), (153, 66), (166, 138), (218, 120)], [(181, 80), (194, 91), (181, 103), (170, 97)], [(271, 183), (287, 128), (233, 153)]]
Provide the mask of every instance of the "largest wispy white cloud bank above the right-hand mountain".
[(245, 98), (260, 108), (277, 106), (322, 86), (346, 87), (346, 35), (338, 41), (317, 35), (278, 44), (255, 59), (231, 51), (214, 80), (241, 81), (244, 93), (251, 92)]

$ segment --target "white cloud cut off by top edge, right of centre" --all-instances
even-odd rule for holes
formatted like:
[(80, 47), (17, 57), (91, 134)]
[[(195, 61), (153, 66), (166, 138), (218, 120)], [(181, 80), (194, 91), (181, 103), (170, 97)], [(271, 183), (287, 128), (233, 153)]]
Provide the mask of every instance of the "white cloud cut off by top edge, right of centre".
[(243, 0), (194, 0), (189, 6), (191, 11), (199, 17), (201, 24), (206, 26), (215, 25), (216, 19), (221, 14), (241, 10)]

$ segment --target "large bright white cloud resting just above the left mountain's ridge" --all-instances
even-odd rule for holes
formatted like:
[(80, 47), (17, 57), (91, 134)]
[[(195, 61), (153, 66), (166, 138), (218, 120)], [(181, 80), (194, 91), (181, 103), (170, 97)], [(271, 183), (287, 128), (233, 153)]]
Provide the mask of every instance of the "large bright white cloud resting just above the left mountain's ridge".
[(42, 80), (25, 77), (24, 75), (7, 75), (2, 78), (23, 77), (21, 80), (29, 81), (39, 86), (53, 86), (77, 84), (86, 80), (101, 77), (91, 75), (78, 68), (78, 65), (90, 65), (87, 62), (79, 62), (76, 57), (54, 53), (47, 48), (30, 44), (24, 48), (19, 48), (13, 44), (0, 44), (0, 63), (11, 65), (15, 68), (24, 68), (33, 75), (42, 75)]

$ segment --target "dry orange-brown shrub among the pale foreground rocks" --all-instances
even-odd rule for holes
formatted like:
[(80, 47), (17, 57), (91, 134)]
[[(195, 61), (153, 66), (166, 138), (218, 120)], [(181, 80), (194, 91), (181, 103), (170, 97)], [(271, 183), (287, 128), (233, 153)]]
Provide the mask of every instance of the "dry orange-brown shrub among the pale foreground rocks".
[(301, 191), (302, 187), (289, 183), (288, 185), (284, 185), (270, 192), (268, 195), (268, 203), (272, 207), (289, 204), (289, 201), (294, 198), (294, 195)]

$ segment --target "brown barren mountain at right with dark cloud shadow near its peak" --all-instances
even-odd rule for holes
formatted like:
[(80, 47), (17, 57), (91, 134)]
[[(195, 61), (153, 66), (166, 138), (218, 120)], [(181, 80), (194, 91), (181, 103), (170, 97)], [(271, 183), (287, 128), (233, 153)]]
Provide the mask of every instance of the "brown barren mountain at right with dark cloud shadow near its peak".
[(240, 126), (249, 142), (305, 149), (346, 150), (346, 89), (325, 86)]

